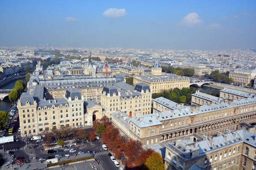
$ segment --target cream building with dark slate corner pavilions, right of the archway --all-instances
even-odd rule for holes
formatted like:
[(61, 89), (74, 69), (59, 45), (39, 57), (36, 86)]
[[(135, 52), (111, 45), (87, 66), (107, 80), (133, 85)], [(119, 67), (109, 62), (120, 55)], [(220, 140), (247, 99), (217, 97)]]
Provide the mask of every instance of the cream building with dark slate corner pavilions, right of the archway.
[(123, 111), (131, 117), (151, 113), (152, 92), (146, 83), (135, 87), (124, 82), (105, 86), (101, 93), (101, 105), (108, 112)]

